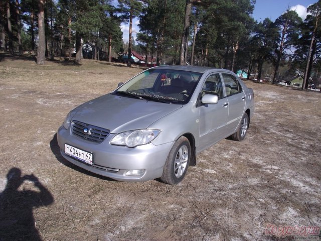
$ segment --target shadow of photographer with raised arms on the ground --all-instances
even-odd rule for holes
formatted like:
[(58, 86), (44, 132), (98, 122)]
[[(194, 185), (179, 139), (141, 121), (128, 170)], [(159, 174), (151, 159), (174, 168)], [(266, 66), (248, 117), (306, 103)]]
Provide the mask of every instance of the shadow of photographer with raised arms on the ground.
[[(39, 191), (18, 190), (26, 180), (33, 182)], [(21, 176), (19, 168), (12, 168), (7, 174), (6, 188), (0, 193), (0, 240), (41, 240), (33, 208), (48, 206), (53, 201), (36, 176)]]

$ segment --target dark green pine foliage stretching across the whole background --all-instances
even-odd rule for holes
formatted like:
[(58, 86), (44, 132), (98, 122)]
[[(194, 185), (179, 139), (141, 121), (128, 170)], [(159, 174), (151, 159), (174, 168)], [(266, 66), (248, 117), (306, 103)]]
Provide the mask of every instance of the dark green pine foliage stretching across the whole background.
[[(14, 47), (17, 49), (15, 1), (10, 3)], [(294, 11), (286, 11), (274, 23), (269, 19), (254, 22), (251, 18), (254, 0), (189, 0), (188, 3), (192, 3), (191, 27), (185, 31), (190, 34), (188, 62), (196, 26), (194, 62), (198, 65), (258, 69), (258, 72), (275, 68), (276, 73), (279, 66), (286, 68), (288, 57), (291, 57), (293, 61), (288, 66), (304, 72), (312, 42), (310, 69), (321, 72), (321, 0), (308, 7), (309, 15), (304, 23)], [(131, 16), (140, 21), (140, 33), (131, 41), (133, 45), (136, 41), (137, 46), (132, 48), (157, 56), (159, 63), (176, 64), (180, 57), (186, 4), (186, 0), (47, 0), (48, 46), (54, 47), (56, 55), (68, 54), (74, 50), (78, 33), (83, 43), (92, 46), (93, 51), (100, 51), (101, 56), (106, 55), (109, 44), (115, 53), (123, 52), (120, 25), (128, 23)], [(1, 23), (6, 26), (5, 9), (0, 10)], [(23, 49), (29, 50), (34, 48), (33, 40), (38, 32), (38, 1), (20, 0), (20, 13), (26, 26), (21, 33)], [(319, 23), (315, 26), (317, 19)]]

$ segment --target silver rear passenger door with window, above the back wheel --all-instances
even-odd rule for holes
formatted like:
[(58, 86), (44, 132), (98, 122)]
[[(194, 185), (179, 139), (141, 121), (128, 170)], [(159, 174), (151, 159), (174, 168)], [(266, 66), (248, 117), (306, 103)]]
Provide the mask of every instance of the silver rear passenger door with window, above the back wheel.
[(237, 78), (229, 73), (222, 73), (226, 98), (229, 105), (227, 132), (233, 134), (244, 113), (246, 96)]

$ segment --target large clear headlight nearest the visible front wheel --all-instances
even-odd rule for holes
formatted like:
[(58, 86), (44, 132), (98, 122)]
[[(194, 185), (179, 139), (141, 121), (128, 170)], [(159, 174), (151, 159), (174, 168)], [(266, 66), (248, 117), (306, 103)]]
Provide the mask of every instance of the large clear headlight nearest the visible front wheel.
[(142, 129), (122, 132), (114, 136), (110, 144), (118, 146), (136, 147), (145, 145), (154, 140), (161, 131), (153, 129)]

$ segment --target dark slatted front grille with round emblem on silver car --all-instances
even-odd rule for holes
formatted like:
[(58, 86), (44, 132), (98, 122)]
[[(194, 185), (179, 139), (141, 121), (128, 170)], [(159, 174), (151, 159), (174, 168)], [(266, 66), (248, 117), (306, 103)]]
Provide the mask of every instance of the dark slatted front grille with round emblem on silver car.
[[(87, 133), (84, 133), (84, 129), (88, 129)], [(73, 121), (72, 122), (72, 133), (80, 137), (84, 140), (95, 142), (95, 143), (101, 143), (103, 142), (106, 137), (109, 135), (109, 130), (91, 126), (82, 122)]]

